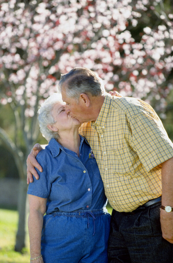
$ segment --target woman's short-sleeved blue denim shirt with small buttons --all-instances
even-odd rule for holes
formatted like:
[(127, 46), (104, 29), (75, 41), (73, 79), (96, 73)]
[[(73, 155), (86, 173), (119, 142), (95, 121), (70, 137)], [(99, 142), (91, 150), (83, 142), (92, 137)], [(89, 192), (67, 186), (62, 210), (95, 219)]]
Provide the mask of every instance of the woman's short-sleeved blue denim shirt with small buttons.
[(51, 139), (36, 159), (43, 168), (39, 180), (29, 184), (28, 194), (47, 198), (46, 214), (55, 211), (101, 209), (107, 198), (95, 157), (80, 136), (80, 157)]

